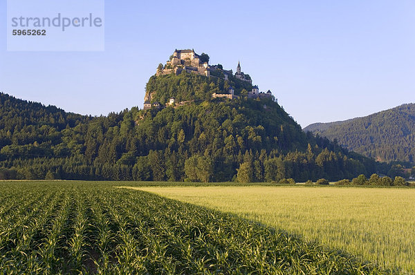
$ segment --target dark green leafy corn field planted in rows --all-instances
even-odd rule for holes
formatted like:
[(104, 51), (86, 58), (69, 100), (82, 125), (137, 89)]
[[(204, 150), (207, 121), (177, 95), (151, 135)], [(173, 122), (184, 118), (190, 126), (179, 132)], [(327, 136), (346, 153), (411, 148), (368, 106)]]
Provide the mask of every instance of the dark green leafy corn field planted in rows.
[(0, 182), (0, 274), (384, 273), (285, 231), (115, 184)]

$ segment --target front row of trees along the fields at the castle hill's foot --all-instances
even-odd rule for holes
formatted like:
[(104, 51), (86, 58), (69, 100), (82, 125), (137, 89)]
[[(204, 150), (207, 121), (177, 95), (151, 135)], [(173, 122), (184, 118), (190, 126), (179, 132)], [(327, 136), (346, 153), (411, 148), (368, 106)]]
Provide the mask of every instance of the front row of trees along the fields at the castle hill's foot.
[[(311, 146), (310, 146), (311, 149)], [(318, 151), (318, 149), (315, 149)], [(217, 153), (217, 152), (216, 152)], [(220, 153), (217, 153), (218, 155)], [(337, 180), (367, 173), (365, 166), (343, 155), (323, 149), (315, 155), (293, 152), (288, 154), (263, 149), (239, 152), (237, 155), (211, 158), (190, 155), (189, 151), (150, 151), (148, 155), (133, 157), (133, 164), (122, 162), (88, 164), (82, 158), (33, 158), (6, 160), (3, 165), (18, 167), (10, 169), (16, 178), (66, 179), (66, 180), (156, 180), (156, 181), (229, 181), (240, 177), (246, 169), (246, 182), (274, 182), (293, 178), (297, 182), (308, 179), (329, 178)], [(340, 176), (339, 176), (340, 175)], [(3, 178), (8, 179), (8, 178)]]

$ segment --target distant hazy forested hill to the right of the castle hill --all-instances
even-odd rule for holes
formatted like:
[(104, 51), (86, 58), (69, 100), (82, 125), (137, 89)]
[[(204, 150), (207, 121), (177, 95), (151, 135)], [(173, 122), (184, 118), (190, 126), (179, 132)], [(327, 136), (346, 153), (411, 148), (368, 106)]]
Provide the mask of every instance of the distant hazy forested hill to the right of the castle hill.
[(344, 122), (316, 123), (304, 128), (337, 139), (349, 150), (383, 162), (415, 162), (415, 104)]

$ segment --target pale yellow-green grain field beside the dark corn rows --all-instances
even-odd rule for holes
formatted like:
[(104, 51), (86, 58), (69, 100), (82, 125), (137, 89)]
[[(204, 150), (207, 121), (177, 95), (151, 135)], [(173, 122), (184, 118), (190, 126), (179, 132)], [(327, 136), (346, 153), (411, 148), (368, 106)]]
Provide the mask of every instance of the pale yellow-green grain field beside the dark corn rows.
[(415, 272), (415, 189), (353, 187), (139, 187), (238, 214)]

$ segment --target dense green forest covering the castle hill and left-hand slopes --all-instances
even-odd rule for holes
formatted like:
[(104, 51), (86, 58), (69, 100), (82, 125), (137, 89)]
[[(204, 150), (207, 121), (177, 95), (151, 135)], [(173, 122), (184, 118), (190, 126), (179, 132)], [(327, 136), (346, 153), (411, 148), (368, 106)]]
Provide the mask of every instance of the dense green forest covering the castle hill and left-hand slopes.
[[(230, 85), (241, 97), (211, 98)], [(247, 99), (247, 88), (188, 73), (151, 77), (153, 100), (198, 100), (101, 117), (1, 93), (0, 178), (207, 182), (238, 173), (250, 181), (304, 182), (386, 173), (374, 160), (304, 133), (275, 100)]]

